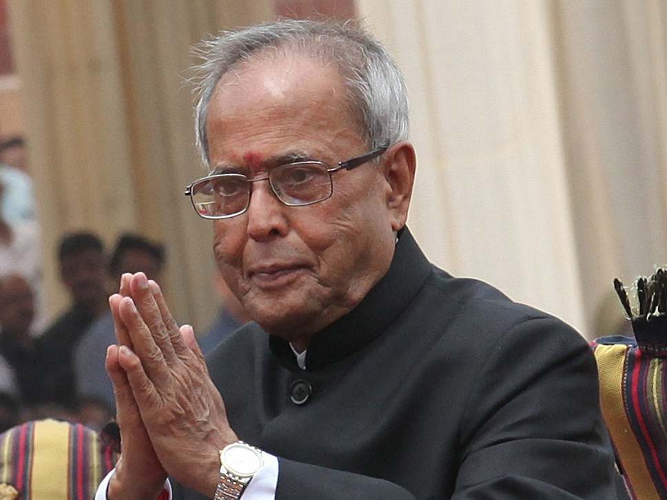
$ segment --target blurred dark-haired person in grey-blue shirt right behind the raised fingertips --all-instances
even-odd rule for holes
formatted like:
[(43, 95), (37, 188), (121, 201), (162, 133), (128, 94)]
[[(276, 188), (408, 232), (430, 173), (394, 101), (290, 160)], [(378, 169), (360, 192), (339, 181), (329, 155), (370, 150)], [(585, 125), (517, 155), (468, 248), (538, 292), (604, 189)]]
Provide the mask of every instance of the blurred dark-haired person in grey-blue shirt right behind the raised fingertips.
[[(165, 265), (163, 245), (138, 234), (125, 233), (116, 242), (109, 260), (109, 280), (118, 286), (123, 273), (143, 271), (156, 282), (162, 282)], [(76, 392), (81, 397), (95, 398), (115, 407), (114, 386), (104, 368), (107, 347), (116, 342), (114, 320), (106, 308), (88, 328), (74, 353)]]

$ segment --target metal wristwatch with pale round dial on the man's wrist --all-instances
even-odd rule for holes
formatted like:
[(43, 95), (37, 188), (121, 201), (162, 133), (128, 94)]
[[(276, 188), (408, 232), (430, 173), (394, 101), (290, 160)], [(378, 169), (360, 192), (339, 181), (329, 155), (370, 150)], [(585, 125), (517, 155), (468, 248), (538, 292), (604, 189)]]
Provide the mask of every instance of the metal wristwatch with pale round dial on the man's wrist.
[(262, 468), (262, 450), (243, 441), (220, 450), (220, 481), (214, 500), (238, 500), (250, 479)]

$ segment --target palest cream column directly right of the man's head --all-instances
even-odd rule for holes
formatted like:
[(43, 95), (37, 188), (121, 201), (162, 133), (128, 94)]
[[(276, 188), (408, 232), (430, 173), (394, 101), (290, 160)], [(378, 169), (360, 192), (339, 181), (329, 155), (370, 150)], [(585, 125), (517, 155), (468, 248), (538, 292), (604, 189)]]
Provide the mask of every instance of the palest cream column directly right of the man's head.
[(358, 0), (407, 77), (427, 255), (585, 333), (550, 5)]

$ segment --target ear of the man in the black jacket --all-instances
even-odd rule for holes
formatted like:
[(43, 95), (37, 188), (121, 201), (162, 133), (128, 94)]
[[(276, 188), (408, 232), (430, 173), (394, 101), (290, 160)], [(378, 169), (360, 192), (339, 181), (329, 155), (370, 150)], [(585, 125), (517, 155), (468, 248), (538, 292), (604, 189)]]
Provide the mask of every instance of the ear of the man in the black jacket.
[(387, 181), (387, 209), (391, 229), (398, 231), (405, 225), (415, 181), (417, 158), (415, 148), (407, 140), (392, 145), (382, 155), (384, 180)]

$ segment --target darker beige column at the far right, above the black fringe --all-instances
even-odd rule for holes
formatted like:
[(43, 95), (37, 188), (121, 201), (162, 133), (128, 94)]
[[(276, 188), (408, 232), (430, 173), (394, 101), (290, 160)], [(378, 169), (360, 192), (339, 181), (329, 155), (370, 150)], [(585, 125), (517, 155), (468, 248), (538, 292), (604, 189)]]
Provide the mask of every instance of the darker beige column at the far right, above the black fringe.
[(593, 311), (613, 278), (629, 283), (667, 264), (667, 8), (661, 0), (554, 5), (564, 152)]

